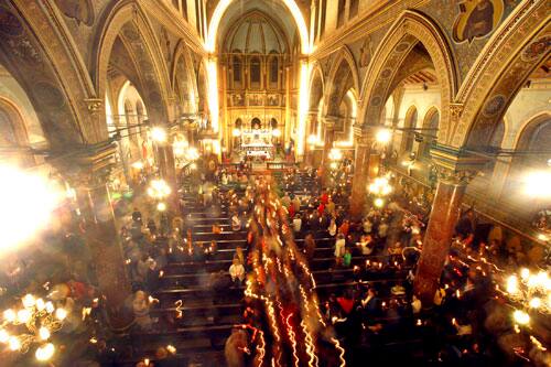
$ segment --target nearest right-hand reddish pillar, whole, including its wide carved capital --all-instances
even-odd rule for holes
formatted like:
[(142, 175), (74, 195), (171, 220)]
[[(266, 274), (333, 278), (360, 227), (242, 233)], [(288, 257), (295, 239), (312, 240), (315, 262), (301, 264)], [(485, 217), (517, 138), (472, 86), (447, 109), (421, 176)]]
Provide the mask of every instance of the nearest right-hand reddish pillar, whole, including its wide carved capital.
[(461, 151), (447, 147), (431, 149), (436, 164), (437, 184), (423, 249), (418, 263), (414, 292), (424, 307), (433, 304), (440, 276), (450, 250), (454, 228), (468, 182), (480, 166), (480, 159), (460, 156)]

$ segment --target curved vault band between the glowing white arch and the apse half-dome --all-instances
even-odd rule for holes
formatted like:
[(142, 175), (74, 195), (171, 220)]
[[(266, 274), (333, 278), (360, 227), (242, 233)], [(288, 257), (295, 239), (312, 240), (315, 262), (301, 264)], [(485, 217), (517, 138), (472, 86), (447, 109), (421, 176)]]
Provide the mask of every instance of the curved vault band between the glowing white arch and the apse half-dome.
[(258, 0), (241, 0), (233, 2), (224, 17), (220, 20), (217, 32), (217, 50), (225, 50), (220, 47), (234, 24), (242, 20), (244, 15), (249, 13), (263, 13), (267, 18), (272, 20), (273, 23), (284, 33), (287, 40), (295, 40), (296, 25), (289, 9), (281, 1), (258, 1)]

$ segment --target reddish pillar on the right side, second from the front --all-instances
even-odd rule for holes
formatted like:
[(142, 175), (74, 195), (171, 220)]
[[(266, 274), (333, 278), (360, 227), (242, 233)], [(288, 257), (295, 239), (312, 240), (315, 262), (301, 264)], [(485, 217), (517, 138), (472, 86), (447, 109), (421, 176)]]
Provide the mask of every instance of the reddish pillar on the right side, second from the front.
[(356, 156), (352, 181), (350, 216), (360, 219), (366, 204), (366, 185), (379, 174), (379, 153), (374, 150), (375, 129), (354, 128)]

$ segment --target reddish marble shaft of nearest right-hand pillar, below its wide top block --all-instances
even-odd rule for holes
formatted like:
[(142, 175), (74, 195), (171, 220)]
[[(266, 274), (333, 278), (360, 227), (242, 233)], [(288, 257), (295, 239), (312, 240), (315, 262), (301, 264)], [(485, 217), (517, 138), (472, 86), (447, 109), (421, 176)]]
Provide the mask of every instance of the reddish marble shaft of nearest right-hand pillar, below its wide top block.
[(424, 307), (433, 305), (440, 276), (460, 217), (463, 196), (472, 177), (469, 172), (457, 172), (439, 168), (436, 193), (432, 203), (429, 225), (419, 259), (414, 293)]

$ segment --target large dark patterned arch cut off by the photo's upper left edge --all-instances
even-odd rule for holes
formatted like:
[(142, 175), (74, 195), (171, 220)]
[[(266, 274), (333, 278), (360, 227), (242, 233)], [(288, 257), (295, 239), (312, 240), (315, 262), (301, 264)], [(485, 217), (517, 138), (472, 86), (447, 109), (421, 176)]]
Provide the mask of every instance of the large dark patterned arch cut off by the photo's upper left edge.
[(67, 80), (75, 80), (51, 58), (51, 45), (37, 39), (32, 26), (10, 2), (0, 6), (0, 63), (29, 97), (50, 149), (53, 152), (66, 151), (96, 140), (90, 132), (94, 130), (91, 123), (85, 127), (88, 116), (83, 115), (71, 95), (75, 86), (68, 85)]

